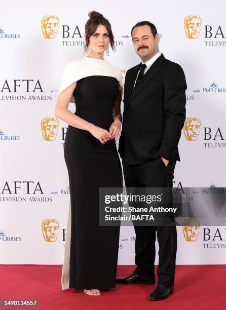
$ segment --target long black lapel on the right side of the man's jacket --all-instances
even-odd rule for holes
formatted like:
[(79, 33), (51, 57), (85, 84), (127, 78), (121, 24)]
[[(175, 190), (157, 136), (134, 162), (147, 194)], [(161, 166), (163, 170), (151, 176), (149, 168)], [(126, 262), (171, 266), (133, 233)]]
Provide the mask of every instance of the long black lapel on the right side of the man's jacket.
[[(152, 66), (150, 66), (150, 68), (145, 72), (145, 74), (143, 75), (143, 78), (140, 80), (139, 84), (135, 87), (135, 89), (132, 91), (131, 86), (133, 87), (134, 82), (135, 82), (135, 78), (132, 79), (131, 77), (131, 86), (130, 86), (130, 94), (128, 94), (127, 96), (127, 104), (125, 106), (125, 109), (127, 109), (129, 107), (129, 105), (131, 104), (131, 102), (133, 101), (133, 99), (137, 96), (137, 94), (141, 91), (141, 89), (146, 85), (146, 83), (152, 79), (156, 73), (162, 68), (162, 63), (163, 60), (165, 59), (165, 57), (163, 56), (163, 54), (156, 59), (156, 61), (153, 63)], [(138, 66), (139, 68), (139, 66)], [(135, 70), (134, 70), (135, 71)], [(136, 70), (136, 74), (138, 73), (138, 69)]]

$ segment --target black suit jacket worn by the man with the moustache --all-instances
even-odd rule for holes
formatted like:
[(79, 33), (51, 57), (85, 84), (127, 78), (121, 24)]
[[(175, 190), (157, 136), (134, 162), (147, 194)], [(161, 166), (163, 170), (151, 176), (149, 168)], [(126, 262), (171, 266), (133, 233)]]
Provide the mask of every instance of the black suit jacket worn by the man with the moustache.
[(180, 161), (177, 145), (186, 103), (183, 70), (162, 54), (133, 90), (140, 65), (129, 69), (125, 77), (120, 156), (127, 165), (160, 156)]

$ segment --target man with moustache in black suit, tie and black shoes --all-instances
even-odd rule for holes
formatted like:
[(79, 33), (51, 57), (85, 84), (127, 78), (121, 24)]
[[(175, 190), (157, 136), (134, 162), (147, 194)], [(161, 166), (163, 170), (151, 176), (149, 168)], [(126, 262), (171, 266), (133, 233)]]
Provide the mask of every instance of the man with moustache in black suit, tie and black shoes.
[[(138, 22), (131, 31), (142, 62), (125, 77), (124, 112), (119, 153), (126, 187), (172, 187), (178, 142), (185, 120), (186, 81), (182, 68), (159, 52), (155, 25)], [(175, 223), (175, 222), (174, 222)], [(158, 284), (149, 300), (173, 293), (177, 232), (175, 225), (134, 226), (134, 272), (121, 284), (155, 283), (155, 241), (159, 242)]]

